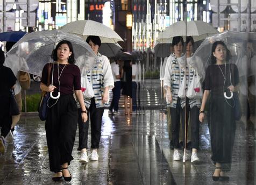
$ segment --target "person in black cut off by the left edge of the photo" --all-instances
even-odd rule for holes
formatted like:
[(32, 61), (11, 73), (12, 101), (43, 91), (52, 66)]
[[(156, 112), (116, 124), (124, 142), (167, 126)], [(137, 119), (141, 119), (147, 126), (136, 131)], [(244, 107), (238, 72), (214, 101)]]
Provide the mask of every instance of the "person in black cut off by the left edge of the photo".
[(13, 89), (16, 83), (16, 77), (9, 67), (3, 66), (4, 52), (0, 49), (0, 123), (1, 123), (1, 137), (0, 137), (0, 152), (5, 151), (5, 137), (11, 130), (12, 117), (9, 114), (11, 88)]

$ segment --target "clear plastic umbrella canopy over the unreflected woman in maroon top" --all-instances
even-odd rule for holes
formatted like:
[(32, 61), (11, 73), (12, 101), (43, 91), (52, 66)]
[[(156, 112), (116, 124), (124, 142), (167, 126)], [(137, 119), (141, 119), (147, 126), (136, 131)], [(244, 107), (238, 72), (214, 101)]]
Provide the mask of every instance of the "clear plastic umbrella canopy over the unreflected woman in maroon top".
[(22, 70), (41, 76), (44, 65), (47, 62), (53, 62), (52, 51), (61, 40), (72, 42), (76, 65), (80, 70), (89, 70), (95, 65), (96, 56), (93, 50), (80, 37), (52, 30), (26, 34), (7, 53), (5, 66), (15, 72)]

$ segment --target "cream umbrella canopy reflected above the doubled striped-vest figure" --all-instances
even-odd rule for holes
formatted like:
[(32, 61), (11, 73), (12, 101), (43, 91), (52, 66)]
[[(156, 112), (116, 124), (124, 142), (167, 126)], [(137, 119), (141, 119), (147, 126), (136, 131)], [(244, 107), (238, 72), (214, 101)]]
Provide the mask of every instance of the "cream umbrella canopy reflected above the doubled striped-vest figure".
[(218, 33), (218, 31), (209, 23), (191, 20), (187, 22), (186, 25), (186, 22), (179, 21), (168, 26), (165, 31), (161, 32), (156, 41), (160, 43), (172, 43), (173, 37), (176, 36), (192, 36), (194, 41), (198, 41), (216, 33)]

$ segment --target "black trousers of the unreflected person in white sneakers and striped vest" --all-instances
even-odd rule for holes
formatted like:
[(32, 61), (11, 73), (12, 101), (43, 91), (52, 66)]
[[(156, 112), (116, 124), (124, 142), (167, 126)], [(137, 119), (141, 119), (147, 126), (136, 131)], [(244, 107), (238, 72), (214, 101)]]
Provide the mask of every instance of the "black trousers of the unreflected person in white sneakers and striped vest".
[(79, 147), (77, 150), (81, 151), (83, 148), (88, 149), (88, 129), (89, 129), (89, 116), (91, 122), (91, 148), (99, 147), (99, 140), (101, 139), (101, 123), (104, 108), (96, 108), (94, 97), (91, 98), (91, 104), (88, 109), (88, 120), (86, 123), (82, 121), (81, 109), (79, 109)]

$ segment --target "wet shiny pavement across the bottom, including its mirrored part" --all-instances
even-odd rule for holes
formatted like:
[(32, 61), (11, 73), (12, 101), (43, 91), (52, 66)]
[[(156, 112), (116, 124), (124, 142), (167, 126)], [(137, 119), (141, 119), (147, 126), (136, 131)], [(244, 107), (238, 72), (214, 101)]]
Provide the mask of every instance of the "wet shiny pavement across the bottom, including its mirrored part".
[[(78, 161), (77, 134), (74, 160), (69, 167), (72, 181), (55, 184), (214, 184), (206, 123), (200, 127), (201, 163), (195, 165), (172, 161), (163, 111), (145, 110), (144, 115), (129, 117), (124, 116), (123, 110), (120, 112), (121, 115), (110, 117), (108, 111), (104, 112), (99, 161)], [(1, 156), (0, 182), (54, 184), (48, 166), (44, 122), (38, 117), (22, 117), (14, 138), (14, 145), (9, 144)], [(230, 181), (222, 183), (254, 184), (254, 158), (254, 129), (245, 130), (244, 124), (237, 123)]]

